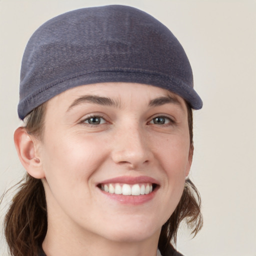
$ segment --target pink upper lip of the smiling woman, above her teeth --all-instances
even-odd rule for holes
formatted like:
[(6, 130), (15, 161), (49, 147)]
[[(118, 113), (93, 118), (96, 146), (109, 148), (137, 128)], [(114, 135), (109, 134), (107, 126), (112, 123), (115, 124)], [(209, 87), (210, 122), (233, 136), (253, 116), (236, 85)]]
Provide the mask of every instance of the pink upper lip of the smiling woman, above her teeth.
[(106, 183), (125, 183), (125, 184), (137, 184), (137, 183), (154, 183), (158, 184), (159, 182), (149, 176), (119, 176), (114, 178), (105, 179), (99, 184)]

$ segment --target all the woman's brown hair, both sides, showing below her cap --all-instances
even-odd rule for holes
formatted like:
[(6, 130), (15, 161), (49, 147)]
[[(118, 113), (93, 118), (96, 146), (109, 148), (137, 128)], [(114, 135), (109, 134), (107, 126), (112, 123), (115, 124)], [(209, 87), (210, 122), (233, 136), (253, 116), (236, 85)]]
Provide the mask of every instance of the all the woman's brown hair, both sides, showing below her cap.
[[(192, 109), (187, 105), (190, 149), (193, 150)], [(28, 134), (43, 138), (46, 103), (34, 108), (27, 116), (25, 128)], [(191, 156), (192, 157), (192, 156)], [(34, 256), (41, 250), (41, 244), (47, 231), (47, 207), (45, 192), (40, 179), (26, 173), (19, 183), (4, 218), (4, 233), (12, 256)], [(163, 224), (159, 236), (158, 248), (161, 254), (174, 255), (177, 230), (182, 220), (186, 221), (195, 236), (202, 227), (200, 195), (189, 178), (180, 201), (169, 219)]]

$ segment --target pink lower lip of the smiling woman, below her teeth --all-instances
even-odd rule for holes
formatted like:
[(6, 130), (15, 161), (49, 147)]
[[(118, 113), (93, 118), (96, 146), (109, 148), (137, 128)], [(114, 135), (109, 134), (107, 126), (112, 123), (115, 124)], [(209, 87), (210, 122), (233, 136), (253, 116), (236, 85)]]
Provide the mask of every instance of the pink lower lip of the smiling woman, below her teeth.
[(115, 193), (108, 193), (100, 189), (100, 191), (106, 195), (108, 198), (112, 200), (116, 200), (123, 204), (142, 204), (148, 202), (153, 199), (155, 196), (158, 187), (155, 187), (154, 190), (149, 194), (141, 194), (141, 195), (123, 195), (123, 194), (115, 194)]

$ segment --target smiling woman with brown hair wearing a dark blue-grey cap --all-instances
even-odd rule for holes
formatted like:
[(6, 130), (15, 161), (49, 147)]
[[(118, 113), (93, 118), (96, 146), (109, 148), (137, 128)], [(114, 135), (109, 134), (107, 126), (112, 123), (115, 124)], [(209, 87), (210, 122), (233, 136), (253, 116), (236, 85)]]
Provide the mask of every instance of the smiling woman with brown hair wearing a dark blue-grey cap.
[(187, 178), (202, 106), (173, 34), (138, 9), (59, 15), (27, 43), (14, 133), (27, 171), (5, 217), (12, 255), (180, 255), (201, 228)]

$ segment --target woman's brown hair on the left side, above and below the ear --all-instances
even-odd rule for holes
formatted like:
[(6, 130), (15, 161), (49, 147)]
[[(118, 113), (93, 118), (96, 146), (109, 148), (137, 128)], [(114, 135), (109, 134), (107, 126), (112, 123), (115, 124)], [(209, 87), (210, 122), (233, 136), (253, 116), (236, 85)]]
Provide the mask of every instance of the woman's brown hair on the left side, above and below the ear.
[[(28, 134), (41, 138), (46, 104), (28, 115), (25, 128)], [(4, 218), (4, 234), (10, 255), (35, 256), (47, 231), (47, 211), (44, 188), (40, 179), (25, 174), (18, 182), (18, 192), (12, 198)]]

